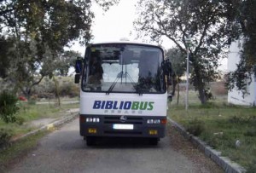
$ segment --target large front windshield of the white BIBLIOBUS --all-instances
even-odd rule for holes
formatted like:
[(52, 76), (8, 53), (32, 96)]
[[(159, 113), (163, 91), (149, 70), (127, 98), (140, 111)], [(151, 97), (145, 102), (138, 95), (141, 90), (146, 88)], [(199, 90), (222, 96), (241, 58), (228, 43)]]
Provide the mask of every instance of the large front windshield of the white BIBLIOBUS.
[(87, 47), (82, 89), (84, 92), (164, 93), (159, 47), (104, 43)]

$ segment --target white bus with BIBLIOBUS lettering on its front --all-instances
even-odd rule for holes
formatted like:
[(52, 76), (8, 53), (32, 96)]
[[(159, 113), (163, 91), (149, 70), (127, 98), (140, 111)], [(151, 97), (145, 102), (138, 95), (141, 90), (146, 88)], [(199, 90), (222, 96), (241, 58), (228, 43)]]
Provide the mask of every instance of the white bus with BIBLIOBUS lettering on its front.
[[(145, 137), (157, 145), (166, 130), (164, 51), (144, 43), (93, 43), (76, 61), (81, 80), (80, 135)], [(169, 69), (170, 70), (170, 69)]]

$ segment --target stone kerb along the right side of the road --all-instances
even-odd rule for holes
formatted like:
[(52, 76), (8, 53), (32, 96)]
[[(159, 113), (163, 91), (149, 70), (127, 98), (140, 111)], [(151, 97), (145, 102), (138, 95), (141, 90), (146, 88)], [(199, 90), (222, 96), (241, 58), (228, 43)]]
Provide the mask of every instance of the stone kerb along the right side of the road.
[(209, 147), (205, 141), (201, 141), (198, 137), (189, 134), (185, 128), (177, 124), (171, 118), (167, 117), (168, 121), (181, 133), (187, 140), (191, 141), (195, 147), (199, 148), (208, 158), (218, 164), (226, 173), (244, 173), (246, 169), (241, 165), (232, 162), (229, 158), (221, 156), (221, 152)]

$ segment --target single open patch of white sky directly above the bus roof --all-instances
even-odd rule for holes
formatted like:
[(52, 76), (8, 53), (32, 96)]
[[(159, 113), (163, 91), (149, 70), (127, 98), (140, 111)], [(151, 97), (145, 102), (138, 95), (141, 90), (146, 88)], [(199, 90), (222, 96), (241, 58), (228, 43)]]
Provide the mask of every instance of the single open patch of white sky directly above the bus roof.
[(105, 13), (101, 7), (94, 5), (93, 10), (96, 12), (95, 25), (92, 27), (94, 41), (117, 41), (122, 37), (129, 38), (133, 30), (133, 20), (136, 19), (136, 3), (137, 0), (120, 0), (118, 5), (110, 7)]

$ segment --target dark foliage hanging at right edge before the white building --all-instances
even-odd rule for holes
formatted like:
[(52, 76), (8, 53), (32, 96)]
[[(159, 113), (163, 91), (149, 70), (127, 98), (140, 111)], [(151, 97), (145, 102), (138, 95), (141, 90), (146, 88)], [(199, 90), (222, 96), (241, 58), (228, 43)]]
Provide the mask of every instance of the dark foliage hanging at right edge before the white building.
[(235, 72), (228, 74), (227, 86), (229, 89), (240, 89), (243, 95), (247, 93), (247, 83), (256, 77), (256, 2), (254, 0), (232, 1), (233, 9), (230, 18), (233, 25), (239, 30), (237, 36), (241, 37), (241, 61), (237, 64)]

